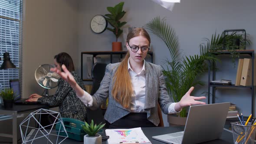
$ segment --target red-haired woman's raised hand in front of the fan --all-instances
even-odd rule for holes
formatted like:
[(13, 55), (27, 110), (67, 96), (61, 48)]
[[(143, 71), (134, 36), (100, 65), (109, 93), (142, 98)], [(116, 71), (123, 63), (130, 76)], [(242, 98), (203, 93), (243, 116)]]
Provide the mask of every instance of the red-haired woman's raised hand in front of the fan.
[(56, 72), (57, 74), (59, 74), (59, 76), (65, 81), (67, 81), (72, 88), (75, 88), (77, 83), (75, 82), (73, 75), (69, 72), (69, 70), (66, 68), (65, 65), (62, 65), (61, 68), (63, 72), (57, 68), (51, 68), (50, 71)]

